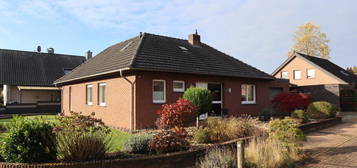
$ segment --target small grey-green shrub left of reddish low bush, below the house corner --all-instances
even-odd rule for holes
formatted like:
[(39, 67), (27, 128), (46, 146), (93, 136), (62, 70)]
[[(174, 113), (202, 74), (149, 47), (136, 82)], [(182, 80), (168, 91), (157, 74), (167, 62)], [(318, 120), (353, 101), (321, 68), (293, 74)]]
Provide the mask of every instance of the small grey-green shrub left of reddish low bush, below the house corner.
[(135, 154), (149, 153), (148, 143), (152, 136), (148, 134), (131, 136), (124, 142), (123, 151)]

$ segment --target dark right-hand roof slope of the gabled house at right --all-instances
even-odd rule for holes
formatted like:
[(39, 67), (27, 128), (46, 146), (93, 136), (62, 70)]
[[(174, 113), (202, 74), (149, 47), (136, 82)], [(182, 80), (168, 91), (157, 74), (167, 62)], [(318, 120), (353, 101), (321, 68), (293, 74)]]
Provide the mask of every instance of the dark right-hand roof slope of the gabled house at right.
[(327, 59), (322, 59), (318, 57), (308, 56), (301, 53), (297, 53), (298, 55), (306, 58), (307, 60), (311, 61), (312, 63), (318, 65), (319, 67), (323, 68), (324, 70), (330, 72), (331, 74), (335, 75), (336, 77), (342, 79), (346, 83), (355, 83), (357, 82), (357, 76), (346, 71), (345, 69), (341, 68), (340, 66), (332, 63)]

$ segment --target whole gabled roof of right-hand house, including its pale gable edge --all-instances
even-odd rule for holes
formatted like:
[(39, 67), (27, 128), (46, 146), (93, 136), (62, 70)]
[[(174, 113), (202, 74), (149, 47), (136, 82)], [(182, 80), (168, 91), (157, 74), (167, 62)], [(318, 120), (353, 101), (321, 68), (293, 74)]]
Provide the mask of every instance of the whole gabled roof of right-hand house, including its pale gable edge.
[(280, 65), (272, 75), (276, 75), (282, 68), (284, 68), (287, 64), (289, 64), (295, 57), (302, 57), (305, 60), (315, 64), (316, 66), (322, 68), (323, 70), (329, 72), (335, 77), (343, 80), (346, 83), (356, 83), (357, 76), (353, 73), (348, 72), (346, 69), (341, 68), (340, 66), (332, 63), (331, 61), (323, 58), (318, 58), (314, 56), (305, 55), (302, 53), (295, 52), (295, 54), (289, 57), (282, 65)]

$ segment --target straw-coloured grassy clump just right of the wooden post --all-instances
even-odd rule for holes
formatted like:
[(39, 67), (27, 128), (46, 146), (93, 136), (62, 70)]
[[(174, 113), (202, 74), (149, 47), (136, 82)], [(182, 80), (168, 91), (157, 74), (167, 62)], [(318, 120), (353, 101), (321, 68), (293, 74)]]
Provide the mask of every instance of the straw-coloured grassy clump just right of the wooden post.
[(255, 139), (245, 150), (245, 161), (249, 167), (285, 168), (300, 159), (297, 150), (286, 150), (274, 139)]

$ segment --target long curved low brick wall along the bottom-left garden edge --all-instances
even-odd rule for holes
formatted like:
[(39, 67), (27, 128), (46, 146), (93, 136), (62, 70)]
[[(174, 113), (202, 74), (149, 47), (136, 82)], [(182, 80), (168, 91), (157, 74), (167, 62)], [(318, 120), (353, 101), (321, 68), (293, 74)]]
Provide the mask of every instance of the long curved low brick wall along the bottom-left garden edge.
[(207, 148), (192, 151), (182, 151), (163, 155), (153, 155), (142, 158), (112, 159), (103, 161), (77, 162), (77, 163), (5, 163), (0, 162), (0, 168), (185, 168), (193, 167), (206, 153), (207, 149), (214, 146), (231, 147), (236, 150), (237, 141), (249, 141), (252, 137), (236, 139)]

